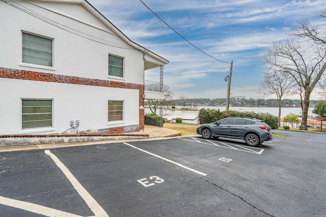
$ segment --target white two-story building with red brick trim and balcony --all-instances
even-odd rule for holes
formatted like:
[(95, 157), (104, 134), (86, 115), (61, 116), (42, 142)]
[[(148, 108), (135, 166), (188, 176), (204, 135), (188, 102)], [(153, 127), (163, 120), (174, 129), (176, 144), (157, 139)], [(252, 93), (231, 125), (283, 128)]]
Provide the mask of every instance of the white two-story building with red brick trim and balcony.
[(144, 129), (144, 99), (164, 97), (144, 71), (168, 60), (84, 0), (0, 1), (0, 14), (0, 134)]

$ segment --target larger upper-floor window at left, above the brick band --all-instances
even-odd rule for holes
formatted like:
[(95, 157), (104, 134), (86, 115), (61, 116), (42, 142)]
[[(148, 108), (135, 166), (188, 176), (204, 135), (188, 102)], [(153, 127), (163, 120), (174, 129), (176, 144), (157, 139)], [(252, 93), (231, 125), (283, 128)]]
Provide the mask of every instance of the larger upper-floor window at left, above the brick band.
[(52, 67), (52, 40), (22, 33), (22, 62)]

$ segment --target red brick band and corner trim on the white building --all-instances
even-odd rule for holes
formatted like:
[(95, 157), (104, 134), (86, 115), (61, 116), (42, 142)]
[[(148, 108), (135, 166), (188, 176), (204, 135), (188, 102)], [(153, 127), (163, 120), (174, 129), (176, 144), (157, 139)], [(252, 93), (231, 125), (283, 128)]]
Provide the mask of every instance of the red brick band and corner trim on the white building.
[[(76, 85), (91, 85), (91, 86), (102, 86), (102, 87), (113, 87), (113, 88), (124, 88), (124, 89), (138, 89), (139, 90), (139, 106), (144, 107), (144, 85), (133, 84), (117, 81), (107, 81), (92, 78), (82, 78), (68, 75), (58, 75), (52, 73), (42, 73), (26, 70), (0, 68), (0, 78), (20, 79), (20, 80), (32, 80), (32, 81), (43, 81), (43, 82), (56, 82)], [(107, 128), (100, 129), (101, 133), (125, 133), (132, 131), (144, 130), (144, 109), (139, 110), (139, 126), (124, 126), (118, 128)]]

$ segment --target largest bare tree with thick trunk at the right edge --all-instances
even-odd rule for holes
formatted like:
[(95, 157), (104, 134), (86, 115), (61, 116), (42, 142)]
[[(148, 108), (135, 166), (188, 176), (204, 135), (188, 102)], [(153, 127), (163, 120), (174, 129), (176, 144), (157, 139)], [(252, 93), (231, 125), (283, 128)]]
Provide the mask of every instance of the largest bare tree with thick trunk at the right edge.
[(326, 69), (323, 47), (309, 41), (287, 40), (274, 43), (265, 58), (268, 70), (282, 71), (292, 76), (303, 91), (301, 130), (308, 130), (307, 119), (310, 95)]

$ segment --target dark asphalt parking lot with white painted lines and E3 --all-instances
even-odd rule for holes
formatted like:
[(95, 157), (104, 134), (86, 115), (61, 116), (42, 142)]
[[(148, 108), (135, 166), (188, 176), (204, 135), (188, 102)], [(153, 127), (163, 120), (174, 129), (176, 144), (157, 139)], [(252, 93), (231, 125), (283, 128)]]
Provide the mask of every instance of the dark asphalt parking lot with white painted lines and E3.
[(2, 152), (0, 216), (326, 216), (326, 135), (280, 133)]

